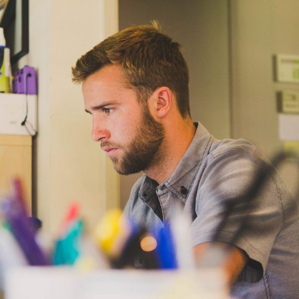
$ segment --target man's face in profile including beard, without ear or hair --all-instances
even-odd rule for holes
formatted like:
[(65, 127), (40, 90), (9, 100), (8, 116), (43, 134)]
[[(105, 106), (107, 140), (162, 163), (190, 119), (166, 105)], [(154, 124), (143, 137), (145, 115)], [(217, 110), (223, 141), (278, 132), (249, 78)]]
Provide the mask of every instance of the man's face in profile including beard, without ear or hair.
[(87, 77), (82, 85), (85, 110), (93, 116), (92, 139), (121, 174), (149, 169), (162, 158), (163, 126), (139, 104), (121, 68), (109, 65)]

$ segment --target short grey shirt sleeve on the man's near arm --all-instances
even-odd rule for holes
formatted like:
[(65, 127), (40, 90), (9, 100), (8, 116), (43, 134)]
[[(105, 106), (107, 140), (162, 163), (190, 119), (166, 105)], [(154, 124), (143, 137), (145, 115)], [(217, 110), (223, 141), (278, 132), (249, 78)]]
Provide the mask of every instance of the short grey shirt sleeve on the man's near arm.
[[(193, 246), (210, 241), (230, 243), (244, 250), (253, 262), (260, 263), (264, 274), (284, 220), (280, 189), (275, 176), (268, 171), (270, 166), (255, 154), (242, 150), (210, 154), (204, 163), (196, 195), (197, 217), (191, 225)], [(261, 192), (248, 205), (243, 195), (260, 167), (266, 167), (268, 177)], [(222, 225), (225, 204), (231, 199), (236, 199), (237, 205)], [(234, 240), (244, 221), (244, 229)]]

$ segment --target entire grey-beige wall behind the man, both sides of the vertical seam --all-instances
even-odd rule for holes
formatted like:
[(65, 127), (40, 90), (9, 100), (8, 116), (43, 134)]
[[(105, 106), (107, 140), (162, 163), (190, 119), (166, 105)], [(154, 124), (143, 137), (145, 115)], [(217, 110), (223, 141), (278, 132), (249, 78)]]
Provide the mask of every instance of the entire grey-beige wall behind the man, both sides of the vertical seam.
[[(273, 55), (299, 54), (298, 0), (120, 0), (120, 29), (157, 19), (182, 43), (192, 118), (216, 138), (244, 138), (268, 157), (283, 148)], [(295, 193), (293, 164), (279, 169)], [(138, 175), (121, 176), (124, 205)]]

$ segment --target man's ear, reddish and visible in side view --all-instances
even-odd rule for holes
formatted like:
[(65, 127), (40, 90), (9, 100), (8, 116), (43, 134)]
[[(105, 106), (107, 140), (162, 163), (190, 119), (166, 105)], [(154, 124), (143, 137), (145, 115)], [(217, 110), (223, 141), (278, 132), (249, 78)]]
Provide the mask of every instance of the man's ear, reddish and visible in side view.
[(149, 98), (149, 111), (154, 118), (164, 118), (173, 105), (173, 93), (168, 87), (159, 87)]

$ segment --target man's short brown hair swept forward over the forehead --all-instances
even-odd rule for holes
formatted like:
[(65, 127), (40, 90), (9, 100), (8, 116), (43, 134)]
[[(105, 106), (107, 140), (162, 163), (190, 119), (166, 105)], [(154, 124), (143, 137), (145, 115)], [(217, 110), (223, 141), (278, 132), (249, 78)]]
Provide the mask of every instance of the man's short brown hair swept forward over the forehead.
[(72, 81), (81, 83), (109, 64), (121, 66), (140, 101), (146, 101), (158, 87), (167, 86), (176, 97), (181, 116), (190, 116), (189, 74), (181, 47), (156, 21), (126, 28), (100, 42), (77, 60)]

